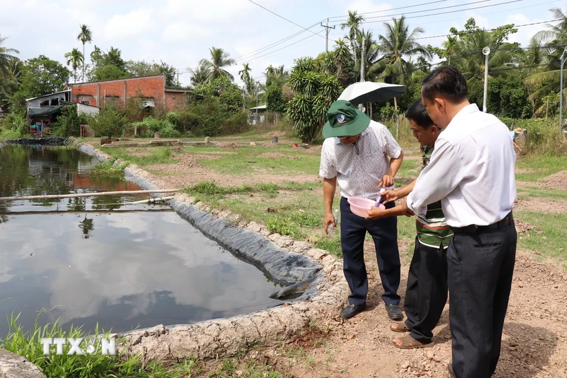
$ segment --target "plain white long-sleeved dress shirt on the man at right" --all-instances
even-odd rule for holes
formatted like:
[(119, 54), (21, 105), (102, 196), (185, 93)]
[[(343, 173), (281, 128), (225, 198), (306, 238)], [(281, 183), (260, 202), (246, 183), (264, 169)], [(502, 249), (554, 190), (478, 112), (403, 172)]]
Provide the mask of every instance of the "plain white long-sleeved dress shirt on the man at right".
[(441, 200), (449, 226), (491, 225), (514, 207), (515, 163), (505, 124), (470, 104), (440, 133), (407, 206), (423, 214), (424, 207)]

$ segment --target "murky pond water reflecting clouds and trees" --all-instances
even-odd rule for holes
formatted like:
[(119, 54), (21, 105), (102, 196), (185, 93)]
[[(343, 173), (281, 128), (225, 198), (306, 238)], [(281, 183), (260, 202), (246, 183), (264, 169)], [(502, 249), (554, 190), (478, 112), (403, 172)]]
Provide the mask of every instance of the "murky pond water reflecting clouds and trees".
[[(97, 159), (68, 147), (0, 148), (0, 196), (137, 190), (89, 177)], [(275, 283), (167, 205), (100, 196), (0, 201), (0, 315), (123, 332), (194, 323), (279, 303)], [(6, 318), (4, 318), (6, 319)], [(0, 317), (0, 338), (8, 321)]]

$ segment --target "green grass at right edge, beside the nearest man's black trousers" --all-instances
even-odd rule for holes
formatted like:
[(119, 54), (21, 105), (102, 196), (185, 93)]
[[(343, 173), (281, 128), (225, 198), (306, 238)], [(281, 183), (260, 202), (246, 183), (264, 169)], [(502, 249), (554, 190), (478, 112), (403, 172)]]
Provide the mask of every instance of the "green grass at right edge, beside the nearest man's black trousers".
[(541, 214), (535, 211), (517, 211), (514, 216), (537, 227), (518, 236), (520, 249), (538, 252), (541, 256), (567, 258), (567, 214)]

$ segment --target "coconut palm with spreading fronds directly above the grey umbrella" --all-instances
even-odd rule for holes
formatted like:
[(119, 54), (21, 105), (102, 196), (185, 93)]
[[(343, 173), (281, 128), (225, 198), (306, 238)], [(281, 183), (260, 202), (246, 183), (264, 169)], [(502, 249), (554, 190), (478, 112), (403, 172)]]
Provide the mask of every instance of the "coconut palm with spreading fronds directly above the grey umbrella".
[(369, 73), (380, 74), (382, 79), (390, 82), (405, 84), (411, 80), (412, 57), (431, 58), (431, 53), (416, 42), (422, 28), (414, 28), (409, 32), (405, 17), (392, 19), (391, 23), (384, 23), (386, 35), (378, 35), (376, 52), (380, 58), (371, 66)]

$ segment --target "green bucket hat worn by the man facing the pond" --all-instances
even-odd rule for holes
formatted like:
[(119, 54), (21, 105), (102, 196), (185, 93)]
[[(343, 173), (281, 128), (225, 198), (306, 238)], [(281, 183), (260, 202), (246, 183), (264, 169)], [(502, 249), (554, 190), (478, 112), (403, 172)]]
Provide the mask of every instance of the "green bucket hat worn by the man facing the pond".
[(323, 137), (351, 137), (362, 133), (370, 118), (346, 100), (337, 100), (327, 111), (328, 121), (323, 126)]

